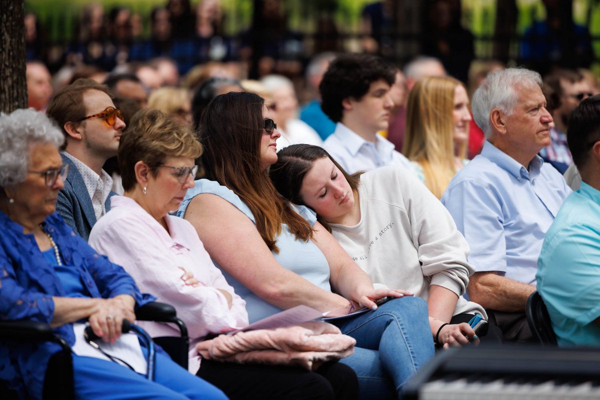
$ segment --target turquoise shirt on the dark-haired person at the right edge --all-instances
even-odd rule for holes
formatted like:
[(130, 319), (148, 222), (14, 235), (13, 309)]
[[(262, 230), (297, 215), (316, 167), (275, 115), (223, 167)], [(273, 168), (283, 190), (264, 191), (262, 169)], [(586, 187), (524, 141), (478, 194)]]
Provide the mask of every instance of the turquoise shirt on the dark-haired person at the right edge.
[(600, 346), (600, 192), (589, 184), (548, 229), (536, 277), (559, 346)]

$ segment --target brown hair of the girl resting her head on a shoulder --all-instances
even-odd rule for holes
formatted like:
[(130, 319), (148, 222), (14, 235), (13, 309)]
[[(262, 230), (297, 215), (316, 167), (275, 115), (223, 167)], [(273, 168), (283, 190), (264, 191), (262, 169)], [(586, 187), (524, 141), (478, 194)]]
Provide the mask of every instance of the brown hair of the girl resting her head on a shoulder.
[[(337, 166), (341, 174), (344, 175), (352, 192), (356, 193), (363, 171), (349, 175), (325, 149), (311, 144), (292, 144), (280, 150), (277, 153), (277, 162), (271, 165), (269, 169), (269, 177), (281, 196), (295, 204), (306, 205), (300, 195), (302, 181), (304, 181), (304, 177), (308, 171), (313, 168), (316, 160), (328, 157)], [(329, 223), (319, 216), (319, 214), (317, 214), (317, 219), (321, 225), (331, 232)]]

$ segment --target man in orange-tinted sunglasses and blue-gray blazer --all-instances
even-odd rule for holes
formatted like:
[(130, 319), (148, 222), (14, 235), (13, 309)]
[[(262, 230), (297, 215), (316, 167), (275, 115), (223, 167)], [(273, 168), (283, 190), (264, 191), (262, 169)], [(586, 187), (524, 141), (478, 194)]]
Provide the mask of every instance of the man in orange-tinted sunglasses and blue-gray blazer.
[(65, 134), (61, 149), (70, 165), (56, 211), (81, 237), (88, 240), (95, 222), (110, 209), (112, 178), (102, 166), (116, 156), (123, 114), (106, 86), (79, 79), (61, 89), (46, 111)]

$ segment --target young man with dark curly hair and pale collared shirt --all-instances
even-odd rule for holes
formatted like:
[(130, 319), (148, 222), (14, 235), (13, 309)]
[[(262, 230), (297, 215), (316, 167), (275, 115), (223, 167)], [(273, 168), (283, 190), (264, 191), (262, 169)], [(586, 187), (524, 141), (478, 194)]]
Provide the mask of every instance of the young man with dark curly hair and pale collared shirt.
[(389, 89), (396, 71), (377, 56), (344, 54), (323, 76), (321, 107), (337, 123), (324, 147), (350, 174), (384, 165), (409, 165), (394, 144), (377, 134), (389, 125), (394, 107)]

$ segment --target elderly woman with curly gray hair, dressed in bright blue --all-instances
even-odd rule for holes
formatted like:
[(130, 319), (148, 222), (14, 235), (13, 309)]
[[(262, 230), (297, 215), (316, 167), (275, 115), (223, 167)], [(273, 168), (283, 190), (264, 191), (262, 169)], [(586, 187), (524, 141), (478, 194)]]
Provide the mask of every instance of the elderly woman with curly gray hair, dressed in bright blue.
[[(144, 399), (226, 399), (160, 351), (151, 381), (97, 357), (85, 342), (83, 348), (92, 350), (80, 350), (77, 322), (88, 319), (104, 342), (121, 346), (123, 320), (135, 320), (134, 308), (154, 298), (142, 295), (120, 266), (96, 253), (56, 214), (68, 173), (58, 152), (63, 141), (43, 113), (0, 114), (0, 320), (46, 322), (64, 338), (73, 350), (77, 399), (125, 399), (131, 393)], [(55, 343), (1, 343), (0, 380), (21, 397), (40, 399), (45, 371), (59, 349)], [(136, 351), (141, 357), (146, 350)], [(107, 390), (109, 382), (118, 392)]]

